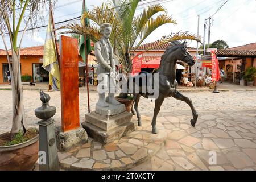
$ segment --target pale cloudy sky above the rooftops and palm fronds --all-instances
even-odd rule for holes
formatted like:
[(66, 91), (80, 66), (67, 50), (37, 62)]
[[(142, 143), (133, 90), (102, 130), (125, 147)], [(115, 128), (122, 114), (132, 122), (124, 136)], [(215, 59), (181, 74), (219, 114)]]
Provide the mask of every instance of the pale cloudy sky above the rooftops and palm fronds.
[[(101, 5), (102, 2), (106, 1), (86, 0), (89, 10), (93, 9), (94, 6)], [(198, 15), (200, 15), (199, 35), (202, 36), (202, 42), (205, 19), (208, 19), (212, 15), (210, 43), (215, 40), (225, 40), (229, 47), (236, 47), (256, 42), (256, 0), (229, 0), (225, 2), (226, 0), (144, 0), (139, 3), (136, 15), (141, 13), (144, 7), (159, 3), (166, 8), (168, 15), (172, 16), (177, 24), (164, 24), (152, 32), (143, 43), (160, 40), (162, 36), (171, 34), (171, 32), (188, 31), (191, 34), (197, 34)], [(224, 3), (225, 5), (223, 5)], [(218, 10), (221, 6), (222, 8)], [(80, 16), (81, 7), (82, 0), (57, 1), (54, 9), (55, 23)], [(39, 23), (39, 26), (48, 24), (47, 10), (48, 7), (42, 10), (44, 22)], [(76, 22), (79, 22), (79, 20)], [(207, 20), (207, 26), (208, 24), (209, 22)], [(56, 25), (56, 27), (59, 26), (60, 24)], [(18, 38), (21, 35), (20, 33)], [(39, 28), (34, 33), (28, 31), (24, 35), (21, 47), (42, 45), (44, 44), (45, 38), (46, 28)], [(5, 39), (10, 48), (8, 37), (5, 36)], [(205, 30), (205, 40), (207, 41), (207, 39), (208, 28)], [(196, 44), (195, 41), (188, 41), (189, 47), (196, 47)], [(2, 38), (0, 38), (0, 49), (4, 48)]]

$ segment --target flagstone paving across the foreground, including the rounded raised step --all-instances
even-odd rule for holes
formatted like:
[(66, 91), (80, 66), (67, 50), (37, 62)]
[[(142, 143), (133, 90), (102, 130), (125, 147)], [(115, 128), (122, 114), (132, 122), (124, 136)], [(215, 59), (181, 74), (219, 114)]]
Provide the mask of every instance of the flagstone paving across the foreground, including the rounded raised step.
[[(256, 170), (256, 110), (200, 111), (196, 127), (189, 122), (191, 111), (159, 113), (159, 134), (151, 134), (152, 113), (142, 114), (142, 127), (127, 137), (105, 146), (91, 139), (75, 150), (59, 152), (61, 167), (71, 170)], [(209, 164), (214, 152), (216, 164)]]

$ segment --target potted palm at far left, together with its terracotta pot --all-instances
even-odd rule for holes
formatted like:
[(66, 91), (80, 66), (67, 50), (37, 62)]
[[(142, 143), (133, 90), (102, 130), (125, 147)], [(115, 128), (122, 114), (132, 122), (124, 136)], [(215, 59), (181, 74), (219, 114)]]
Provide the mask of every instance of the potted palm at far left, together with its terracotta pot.
[[(0, 171), (31, 170), (38, 159), (38, 130), (27, 126), (24, 112), (22, 78), (20, 75), (20, 47), (27, 27), (34, 30), (38, 19), (43, 18), (43, 11), (41, 10), (47, 2), (46, 0), (6, 0), (0, 3), (0, 34), (9, 64), (13, 94), (11, 131), (0, 134)], [(53, 3), (55, 3), (54, 0)], [(18, 38), (20, 27), (24, 27), (24, 30)], [(3, 31), (7, 31), (10, 48), (8, 48), (4, 36), (5, 32)]]

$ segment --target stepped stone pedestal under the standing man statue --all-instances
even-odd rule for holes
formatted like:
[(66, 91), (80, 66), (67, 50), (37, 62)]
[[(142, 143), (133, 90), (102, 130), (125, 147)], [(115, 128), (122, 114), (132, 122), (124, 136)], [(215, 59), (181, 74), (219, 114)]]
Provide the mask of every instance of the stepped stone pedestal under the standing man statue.
[(82, 127), (88, 135), (102, 144), (107, 144), (137, 129), (138, 122), (131, 122), (133, 114), (125, 110), (125, 105), (100, 107), (96, 111), (85, 114)]

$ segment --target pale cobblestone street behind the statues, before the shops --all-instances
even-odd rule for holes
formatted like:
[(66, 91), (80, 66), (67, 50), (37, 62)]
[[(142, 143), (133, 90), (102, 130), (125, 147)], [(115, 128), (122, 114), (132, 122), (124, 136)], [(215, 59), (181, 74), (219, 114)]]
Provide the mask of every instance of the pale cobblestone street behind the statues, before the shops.
[[(56, 125), (61, 122), (60, 110), (60, 92), (46, 92), (51, 96), (49, 105), (56, 107), (56, 114), (53, 117)], [(256, 109), (256, 91), (228, 91), (220, 93), (212, 93), (209, 91), (201, 92), (182, 92), (185, 96), (191, 98), (196, 110), (244, 110)], [(28, 125), (38, 126), (36, 122), (39, 120), (35, 117), (34, 110), (41, 106), (39, 99), (39, 91), (24, 90), (24, 108)], [(8, 131), (11, 127), (12, 100), (10, 90), (0, 90), (0, 133)], [(97, 92), (90, 92), (90, 109), (95, 110), (98, 99)], [(85, 90), (79, 92), (80, 105), (80, 122), (84, 121), (87, 110), (87, 96)], [(139, 111), (152, 113), (154, 112), (155, 102), (141, 97), (139, 102)], [(175, 98), (166, 98), (161, 107), (161, 112), (173, 110), (190, 110), (189, 106), (183, 101)]]

